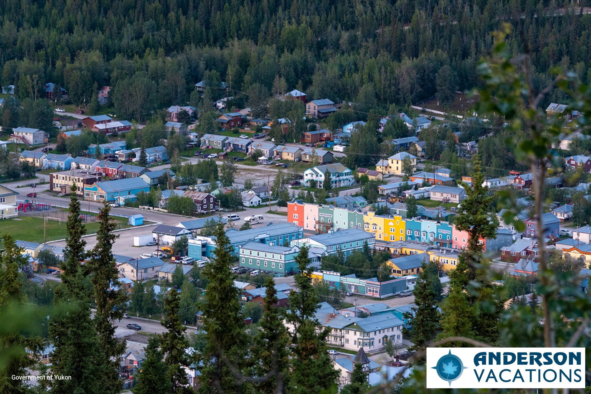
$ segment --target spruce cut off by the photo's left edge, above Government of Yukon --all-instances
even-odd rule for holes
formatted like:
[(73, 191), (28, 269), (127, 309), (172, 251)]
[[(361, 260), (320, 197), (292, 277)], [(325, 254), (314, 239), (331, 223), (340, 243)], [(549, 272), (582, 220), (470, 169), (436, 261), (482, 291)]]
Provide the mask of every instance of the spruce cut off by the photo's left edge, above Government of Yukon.
[[(17, 310), (22, 312), (25, 307), (25, 294), (22, 291), (20, 269), (24, 268), (28, 259), (21, 254), (12, 236), (2, 237), (4, 251), (0, 260), (0, 314), (10, 314)], [(27, 320), (30, 316), (27, 315)], [(27, 391), (24, 381), (12, 379), (12, 375), (24, 376), (27, 368), (33, 367), (36, 360), (29, 357), (25, 348), (38, 352), (43, 339), (20, 332), (14, 321), (11, 329), (0, 330), (0, 393), (24, 393)], [(30, 321), (30, 323), (37, 323)], [(28, 330), (33, 331), (33, 330)], [(4, 359), (7, 357), (7, 359)]]

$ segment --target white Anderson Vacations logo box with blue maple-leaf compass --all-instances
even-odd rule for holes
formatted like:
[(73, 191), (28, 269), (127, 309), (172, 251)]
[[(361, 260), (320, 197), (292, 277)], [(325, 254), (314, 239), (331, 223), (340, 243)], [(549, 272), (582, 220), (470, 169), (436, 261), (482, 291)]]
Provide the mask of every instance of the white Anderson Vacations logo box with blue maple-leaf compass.
[(583, 389), (584, 347), (429, 347), (427, 388)]

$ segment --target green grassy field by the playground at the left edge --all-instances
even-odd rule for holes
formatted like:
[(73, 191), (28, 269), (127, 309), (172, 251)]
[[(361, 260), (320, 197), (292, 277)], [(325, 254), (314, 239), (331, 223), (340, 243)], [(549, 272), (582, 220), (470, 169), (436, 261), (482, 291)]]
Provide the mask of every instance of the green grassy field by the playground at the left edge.
[[(118, 228), (127, 227), (127, 220), (113, 216), (118, 222)], [(86, 233), (96, 233), (98, 222), (86, 224)], [(0, 222), (0, 234), (7, 233), (14, 239), (30, 242), (43, 242), (43, 219), (41, 217), (21, 216), (18, 219), (6, 219)], [(64, 239), (66, 237), (66, 222), (47, 220), (46, 242)]]

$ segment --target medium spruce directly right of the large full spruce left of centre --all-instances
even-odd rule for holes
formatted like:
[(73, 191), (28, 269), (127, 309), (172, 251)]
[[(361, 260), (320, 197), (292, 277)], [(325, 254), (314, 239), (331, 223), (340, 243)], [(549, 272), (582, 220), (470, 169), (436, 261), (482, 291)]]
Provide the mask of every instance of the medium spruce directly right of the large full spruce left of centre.
[(259, 330), (251, 347), (254, 359), (253, 376), (267, 377), (255, 383), (255, 390), (261, 394), (289, 392), (289, 342), (290, 337), (283, 324), (283, 316), (277, 307), (275, 282), (269, 276), (265, 286), (265, 306)]

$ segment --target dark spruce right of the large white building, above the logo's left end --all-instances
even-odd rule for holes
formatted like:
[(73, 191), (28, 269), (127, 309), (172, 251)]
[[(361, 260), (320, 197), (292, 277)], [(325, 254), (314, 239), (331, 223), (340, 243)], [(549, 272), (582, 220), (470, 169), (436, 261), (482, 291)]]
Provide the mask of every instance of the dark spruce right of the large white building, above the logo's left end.
[[(433, 277), (427, 271), (425, 262), (421, 265), (413, 294), (412, 312), (405, 312), (403, 315), (405, 319), (412, 320), (413, 324), (410, 330), (403, 328), (402, 334), (404, 336), (410, 334), (414, 343), (410, 350), (419, 350), (427, 347), (440, 331), (437, 293), (433, 289)], [(424, 359), (420, 360), (420, 363), (424, 362)]]

